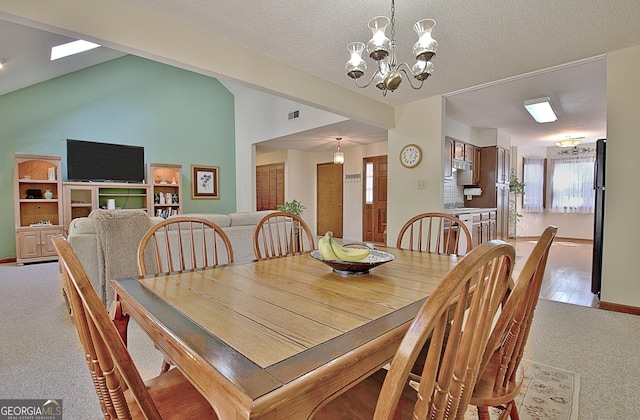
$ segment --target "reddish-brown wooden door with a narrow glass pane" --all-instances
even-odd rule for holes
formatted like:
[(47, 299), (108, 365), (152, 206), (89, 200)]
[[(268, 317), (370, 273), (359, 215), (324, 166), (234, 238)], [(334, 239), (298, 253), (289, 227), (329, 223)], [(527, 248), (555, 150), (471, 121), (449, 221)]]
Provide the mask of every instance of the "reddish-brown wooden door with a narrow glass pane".
[(387, 242), (387, 156), (365, 158), (362, 203), (362, 240)]

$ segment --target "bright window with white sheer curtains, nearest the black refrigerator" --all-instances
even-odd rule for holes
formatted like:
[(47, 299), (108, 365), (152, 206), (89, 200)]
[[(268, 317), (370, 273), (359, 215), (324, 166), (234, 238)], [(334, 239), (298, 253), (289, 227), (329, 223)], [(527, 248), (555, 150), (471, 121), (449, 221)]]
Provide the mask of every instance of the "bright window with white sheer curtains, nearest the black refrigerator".
[(551, 160), (551, 211), (593, 213), (595, 156)]

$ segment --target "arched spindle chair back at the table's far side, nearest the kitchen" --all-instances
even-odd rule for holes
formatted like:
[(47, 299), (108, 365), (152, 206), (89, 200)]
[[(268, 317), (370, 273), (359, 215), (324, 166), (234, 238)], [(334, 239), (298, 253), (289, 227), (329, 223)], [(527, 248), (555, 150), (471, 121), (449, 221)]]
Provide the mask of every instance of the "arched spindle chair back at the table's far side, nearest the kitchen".
[[(466, 249), (459, 249), (466, 238)], [(469, 228), (457, 217), (438, 212), (422, 213), (409, 219), (400, 229), (396, 248), (434, 254), (464, 255), (473, 247)]]

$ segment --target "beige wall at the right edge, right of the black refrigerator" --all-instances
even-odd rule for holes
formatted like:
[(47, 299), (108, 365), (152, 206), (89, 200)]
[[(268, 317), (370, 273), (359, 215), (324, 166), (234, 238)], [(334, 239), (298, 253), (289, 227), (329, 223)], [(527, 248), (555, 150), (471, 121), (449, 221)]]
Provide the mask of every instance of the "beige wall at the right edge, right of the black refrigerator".
[(640, 307), (640, 47), (607, 55), (607, 165), (601, 300)]

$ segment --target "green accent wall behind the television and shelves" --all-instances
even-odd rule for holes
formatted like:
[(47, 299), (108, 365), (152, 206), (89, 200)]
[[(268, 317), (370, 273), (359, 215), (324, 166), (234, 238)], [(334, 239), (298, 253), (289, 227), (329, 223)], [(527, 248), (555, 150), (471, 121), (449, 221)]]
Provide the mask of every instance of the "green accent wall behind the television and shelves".
[[(124, 56), (0, 96), (0, 260), (16, 256), (13, 155), (62, 157), (66, 139), (144, 146), (182, 165), (185, 213), (236, 209), (233, 95), (216, 79)], [(191, 200), (192, 164), (219, 166), (220, 198)]]

